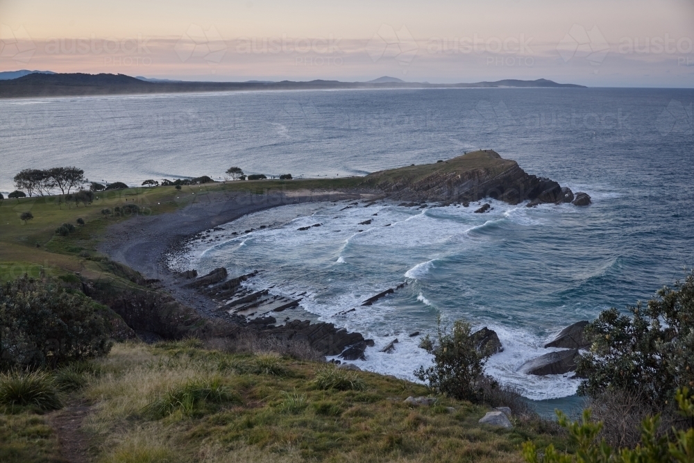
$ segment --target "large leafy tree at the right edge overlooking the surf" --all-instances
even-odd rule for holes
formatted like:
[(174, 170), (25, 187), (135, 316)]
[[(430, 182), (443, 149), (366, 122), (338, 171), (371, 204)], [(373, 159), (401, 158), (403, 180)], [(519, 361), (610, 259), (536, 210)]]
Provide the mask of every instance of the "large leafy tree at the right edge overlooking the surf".
[(579, 394), (620, 391), (665, 403), (677, 387), (694, 386), (694, 272), (628, 310), (605, 310), (586, 326), (592, 344), (578, 361), (576, 373), (586, 378)]

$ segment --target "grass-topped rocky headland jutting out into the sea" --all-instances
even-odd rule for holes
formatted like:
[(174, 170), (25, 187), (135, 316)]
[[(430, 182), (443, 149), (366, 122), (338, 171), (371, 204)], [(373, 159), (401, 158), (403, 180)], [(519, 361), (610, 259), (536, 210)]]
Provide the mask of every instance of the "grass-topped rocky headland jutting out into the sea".
[(492, 150), (472, 151), (430, 165), (374, 172), (364, 180), (393, 199), (407, 201), (468, 203), (493, 198), (511, 204), (533, 199), (556, 203), (568, 194), (562, 192), (559, 183), (526, 174), (516, 161), (502, 159)]

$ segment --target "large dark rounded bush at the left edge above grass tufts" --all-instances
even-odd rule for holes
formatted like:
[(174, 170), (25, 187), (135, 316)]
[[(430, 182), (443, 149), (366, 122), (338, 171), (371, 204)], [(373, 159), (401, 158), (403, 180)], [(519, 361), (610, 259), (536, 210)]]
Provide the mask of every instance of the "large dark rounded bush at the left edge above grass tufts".
[(56, 280), (24, 276), (0, 286), (0, 367), (56, 367), (110, 350), (106, 308)]

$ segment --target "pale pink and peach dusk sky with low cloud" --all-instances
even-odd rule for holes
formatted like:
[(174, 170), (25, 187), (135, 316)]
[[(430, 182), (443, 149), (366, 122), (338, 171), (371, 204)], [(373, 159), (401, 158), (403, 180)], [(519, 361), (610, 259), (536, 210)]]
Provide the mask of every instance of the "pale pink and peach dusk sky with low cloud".
[(0, 71), (694, 87), (694, 0), (0, 0)]

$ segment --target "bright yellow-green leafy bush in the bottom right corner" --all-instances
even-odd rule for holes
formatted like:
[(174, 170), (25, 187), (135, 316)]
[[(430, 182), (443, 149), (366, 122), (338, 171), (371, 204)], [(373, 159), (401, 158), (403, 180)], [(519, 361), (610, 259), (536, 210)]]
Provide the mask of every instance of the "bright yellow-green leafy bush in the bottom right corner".
[[(694, 422), (694, 402), (689, 396), (688, 388), (682, 388), (675, 394), (680, 413)], [(602, 430), (602, 423), (591, 421), (591, 411), (584, 410), (581, 422), (568, 421), (565, 414), (557, 410), (559, 425), (568, 430), (577, 444), (575, 455), (558, 453), (554, 446), (545, 448), (543, 455), (538, 455), (537, 448), (531, 441), (523, 444), (523, 457), (529, 463), (685, 463), (694, 461), (694, 428), (675, 430), (667, 437), (658, 437), (659, 416), (651, 416), (641, 423), (641, 444), (634, 449), (611, 448), (607, 442), (596, 442)]]

